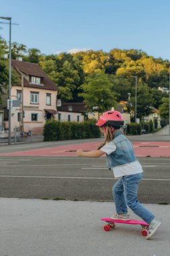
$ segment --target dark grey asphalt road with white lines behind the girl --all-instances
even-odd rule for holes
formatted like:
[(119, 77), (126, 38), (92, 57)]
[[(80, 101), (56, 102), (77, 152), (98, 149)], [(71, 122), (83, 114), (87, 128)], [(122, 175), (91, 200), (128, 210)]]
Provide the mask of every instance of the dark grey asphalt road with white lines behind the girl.
[[(140, 158), (142, 203), (170, 203), (170, 158)], [(0, 157), (0, 197), (112, 201), (105, 158)]]

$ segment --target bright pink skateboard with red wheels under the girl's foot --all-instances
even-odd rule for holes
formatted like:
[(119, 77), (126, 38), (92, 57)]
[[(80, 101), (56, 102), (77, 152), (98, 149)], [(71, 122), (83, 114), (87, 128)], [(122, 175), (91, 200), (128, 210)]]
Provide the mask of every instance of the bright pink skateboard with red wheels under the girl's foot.
[(105, 231), (110, 231), (110, 228), (115, 228), (116, 224), (115, 223), (123, 223), (123, 224), (133, 224), (133, 225), (140, 225), (142, 226), (142, 231), (141, 234), (142, 236), (146, 236), (148, 234), (148, 226), (144, 221), (140, 220), (112, 220), (110, 218), (102, 218), (103, 222), (107, 222), (108, 224), (103, 226), (103, 230)]

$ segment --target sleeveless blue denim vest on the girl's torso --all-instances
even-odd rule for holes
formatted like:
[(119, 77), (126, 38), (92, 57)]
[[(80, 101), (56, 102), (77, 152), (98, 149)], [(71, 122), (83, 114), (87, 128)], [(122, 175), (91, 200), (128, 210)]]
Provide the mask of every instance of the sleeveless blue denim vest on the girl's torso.
[(137, 160), (134, 155), (132, 143), (121, 131), (117, 131), (114, 134), (114, 139), (112, 141), (116, 144), (116, 150), (110, 155), (106, 154), (108, 169)]

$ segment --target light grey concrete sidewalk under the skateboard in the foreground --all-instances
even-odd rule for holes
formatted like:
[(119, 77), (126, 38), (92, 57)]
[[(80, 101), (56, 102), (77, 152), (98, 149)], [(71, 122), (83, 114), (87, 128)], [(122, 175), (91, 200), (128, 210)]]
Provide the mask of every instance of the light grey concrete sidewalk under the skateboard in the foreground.
[(0, 205), (1, 256), (169, 255), (170, 205), (145, 205), (162, 223), (150, 241), (138, 225), (103, 231), (113, 203), (0, 198)]

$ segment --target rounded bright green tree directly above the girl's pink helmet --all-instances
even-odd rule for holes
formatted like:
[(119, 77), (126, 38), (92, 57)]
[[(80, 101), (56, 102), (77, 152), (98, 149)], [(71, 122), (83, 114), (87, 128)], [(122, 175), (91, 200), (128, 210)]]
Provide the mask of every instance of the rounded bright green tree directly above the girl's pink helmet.
[(81, 85), (83, 97), (87, 109), (94, 111), (97, 109), (99, 113), (109, 110), (116, 104), (115, 93), (112, 90), (112, 82), (108, 75), (104, 73), (94, 73), (88, 76), (85, 83)]

